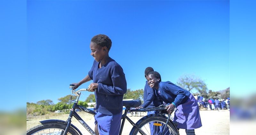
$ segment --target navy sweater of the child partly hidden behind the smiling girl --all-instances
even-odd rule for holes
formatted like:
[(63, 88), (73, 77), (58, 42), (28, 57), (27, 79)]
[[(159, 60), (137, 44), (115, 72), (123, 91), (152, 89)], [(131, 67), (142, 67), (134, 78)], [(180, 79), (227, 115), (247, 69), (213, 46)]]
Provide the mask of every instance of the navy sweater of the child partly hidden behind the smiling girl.
[(154, 89), (148, 85), (148, 81), (146, 81), (144, 87), (143, 101), (144, 103), (141, 105), (143, 108), (152, 108), (162, 105), (159, 99), (157, 99)]

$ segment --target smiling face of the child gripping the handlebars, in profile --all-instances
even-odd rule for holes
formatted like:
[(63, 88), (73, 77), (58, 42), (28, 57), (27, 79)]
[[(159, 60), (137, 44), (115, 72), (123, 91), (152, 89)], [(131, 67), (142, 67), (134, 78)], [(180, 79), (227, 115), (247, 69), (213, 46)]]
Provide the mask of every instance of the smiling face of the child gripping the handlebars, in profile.
[[(99, 45), (91, 42), (90, 49), (92, 50), (91, 55), (94, 58), (94, 60), (99, 62), (100, 60), (102, 60), (105, 57), (105, 53), (107, 52), (105, 48), (106, 47), (100, 47)], [(105, 51), (104, 51), (104, 49), (105, 49)]]

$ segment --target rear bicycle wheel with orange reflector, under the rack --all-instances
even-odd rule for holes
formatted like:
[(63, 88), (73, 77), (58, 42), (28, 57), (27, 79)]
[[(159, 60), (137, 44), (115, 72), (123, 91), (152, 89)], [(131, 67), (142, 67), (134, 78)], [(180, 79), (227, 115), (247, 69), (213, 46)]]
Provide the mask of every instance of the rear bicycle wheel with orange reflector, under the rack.
[[(167, 118), (161, 115), (147, 115), (148, 117), (146, 117), (143, 120), (139, 120), (136, 125), (138, 125), (138, 127), (147, 135), (162, 135), (162, 130), (160, 128), (164, 129), (164, 125), (166, 123)], [(149, 124), (150, 123), (154, 123), (154, 133), (150, 133), (150, 127)], [(161, 126), (161, 127), (160, 127)], [(158, 128), (158, 129), (157, 129)], [(166, 130), (168, 129), (168, 131), (164, 131), (165, 134), (164, 135), (179, 135), (179, 131), (177, 130), (177, 128), (175, 127), (175, 125), (173, 123), (171, 123), (170, 121), (167, 124)], [(132, 128), (130, 135), (140, 135), (141, 133), (139, 132), (139, 129), (136, 128), (135, 126)]]

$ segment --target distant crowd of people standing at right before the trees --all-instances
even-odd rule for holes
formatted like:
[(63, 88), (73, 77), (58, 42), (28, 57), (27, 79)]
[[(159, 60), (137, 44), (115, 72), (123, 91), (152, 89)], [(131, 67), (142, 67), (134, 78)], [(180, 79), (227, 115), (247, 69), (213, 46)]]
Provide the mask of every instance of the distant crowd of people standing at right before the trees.
[(227, 99), (204, 99), (202, 96), (194, 95), (200, 110), (225, 110), (230, 106), (230, 98)]

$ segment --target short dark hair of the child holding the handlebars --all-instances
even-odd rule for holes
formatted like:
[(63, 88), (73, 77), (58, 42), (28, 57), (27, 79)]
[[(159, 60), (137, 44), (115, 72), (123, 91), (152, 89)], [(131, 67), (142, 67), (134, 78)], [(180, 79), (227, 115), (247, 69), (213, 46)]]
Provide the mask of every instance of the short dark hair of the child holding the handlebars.
[(110, 50), (110, 48), (112, 46), (111, 39), (108, 36), (103, 35), (103, 34), (93, 36), (92, 39), (91, 39), (91, 42), (93, 42), (94, 44), (99, 45), (100, 47), (106, 46), (108, 48), (108, 51)]

